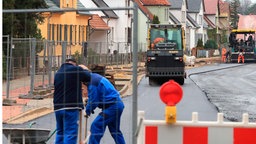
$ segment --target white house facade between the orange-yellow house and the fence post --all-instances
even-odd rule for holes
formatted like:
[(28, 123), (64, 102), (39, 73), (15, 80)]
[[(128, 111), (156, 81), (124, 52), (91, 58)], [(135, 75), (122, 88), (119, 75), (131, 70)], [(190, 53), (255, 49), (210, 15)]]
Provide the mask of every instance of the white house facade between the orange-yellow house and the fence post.
[[(130, 1), (126, 0), (82, 0), (86, 8), (101, 8), (101, 7), (129, 7)], [(101, 43), (102, 50), (107, 50), (108, 53), (128, 53), (131, 52), (131, 11), (128, 10), (100, 10), (91, 11), (99, 17), (109, 27), (107, 34), (95, 35), (91, 31), (88, 37), (88, 43)], [(95, 45), (94, 45), (95, 46)], [(99, 45), (100, 46), (100, 45)]]

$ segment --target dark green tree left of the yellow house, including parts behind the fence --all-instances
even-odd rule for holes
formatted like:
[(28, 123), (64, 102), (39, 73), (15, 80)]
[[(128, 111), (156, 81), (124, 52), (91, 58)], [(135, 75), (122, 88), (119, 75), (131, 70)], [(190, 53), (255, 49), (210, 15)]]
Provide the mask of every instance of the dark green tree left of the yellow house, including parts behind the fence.
[[(40, 9), (47, 8), (44, 0), (3, 0), (3, 9)], [(44, 21), (40, 13), (3, 13), (3, 35), (9, 35), (10, 38), (37, 38), (41, 39), (42, 35), (37, 24)], [(7, 46), (3, 45), (3, 63), (6, 63)], [(13, 57), (21, 57), (22, 66), (25, 65), (27, 54), (30, 50), (26, 42), (16, 44), (20, 49), (13, 50)], [(37, 44), (36, 52), (42, 50), (42, 46)], [(13, 63), (12, 66), (14, 66)], [(6, 73), (5, 65), (3, 73)]]

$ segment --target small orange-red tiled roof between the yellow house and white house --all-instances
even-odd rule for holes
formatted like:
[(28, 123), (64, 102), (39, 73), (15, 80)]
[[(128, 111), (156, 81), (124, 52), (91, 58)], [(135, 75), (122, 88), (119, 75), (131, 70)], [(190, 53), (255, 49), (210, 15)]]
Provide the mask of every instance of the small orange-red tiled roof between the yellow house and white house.
[(98, 15), (94, 14), (90, 20), (90, 26), (97, 30), (109, 30), (110, 27), (103, 21), (103, 19)]

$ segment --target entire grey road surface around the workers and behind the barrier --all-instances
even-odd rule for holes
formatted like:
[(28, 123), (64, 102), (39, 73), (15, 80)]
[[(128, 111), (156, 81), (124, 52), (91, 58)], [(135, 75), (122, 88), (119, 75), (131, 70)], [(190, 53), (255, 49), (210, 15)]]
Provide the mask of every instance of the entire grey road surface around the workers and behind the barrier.
[[(198, 112), (200, 121), (216, 121), (217, 113), (223, 112), (226, 121), (239, 121), (243, 112), (254, 119), (255, 64), (214, 64), (187, 70), (189, 77), (182, 86), (183, 98), (177, 104), (177, 120), (191, 120), (192, 112)], [(146, 119), (164, 120), (165, 104), (159, 97), (160, 85), (149, 86), (148, 78), (142, 78), (138, 86), (138, 110), (145, 111)], [(121, 121), (126, 143), (132, 143), (132, 97), (123, 99), (125, 110)], [(95, 111), (97, 114), (98, 111)], [(95, 114), (94, 114), (95, 115)], [(94, 116), (88, 119), (88, 128)], [(55, 130), (55, 117), (51, 113), (34, 120), (33, 128)], [(30, 122), (22, 125), (3, 127), (29, 127)], [(53, 143), (55, 135), (48, 141)], [(6, 143), (6, 137), (3, 137)], [(106, 130), (101, 144), (114, 143)]]

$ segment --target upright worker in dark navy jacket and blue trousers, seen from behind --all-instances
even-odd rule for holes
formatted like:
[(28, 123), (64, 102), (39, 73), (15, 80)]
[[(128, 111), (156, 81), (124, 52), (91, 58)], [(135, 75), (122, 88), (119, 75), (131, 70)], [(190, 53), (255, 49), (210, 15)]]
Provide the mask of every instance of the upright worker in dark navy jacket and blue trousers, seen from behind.
[(77, 144), (79, 112), (84, 109), (82, 82), (89, 82), (89, 71), (67, 59), (54, 77), (55, 144)]

